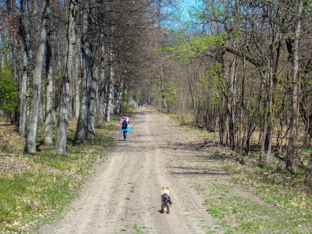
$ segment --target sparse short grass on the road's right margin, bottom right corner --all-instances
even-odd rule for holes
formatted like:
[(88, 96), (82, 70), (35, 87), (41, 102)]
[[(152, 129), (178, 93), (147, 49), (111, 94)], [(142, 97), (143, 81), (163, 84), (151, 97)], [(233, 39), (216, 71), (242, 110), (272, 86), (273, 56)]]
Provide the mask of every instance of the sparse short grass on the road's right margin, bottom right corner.
[(252, 234), (308, 234), (311, 233), (310, 215), (299, 215), (292, 210), (280, 210), (233, 192), (231, 186), (210, 185), (210, 194), (203, 205), (212, 217), (220, 220), (226, 233)]

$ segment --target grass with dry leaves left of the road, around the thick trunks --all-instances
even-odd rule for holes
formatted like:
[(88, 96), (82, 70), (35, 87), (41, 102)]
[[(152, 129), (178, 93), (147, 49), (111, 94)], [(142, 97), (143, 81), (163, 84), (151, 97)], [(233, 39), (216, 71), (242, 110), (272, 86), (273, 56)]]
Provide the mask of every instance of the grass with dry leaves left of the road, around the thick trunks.
[[(128, 111), (129, 112), (129, 111)], [(76, 121), (69, 124), (67, 154), (54, 155), (53, 146), (41, 145), (36, 155), (0, 156), (0, 230), (25, 233), (57, 216), (78, 195), (81, 184), (94, 163), (105, 161), (105, 152), (114, 143), (110, 135), (118, 131), (119, 116), (88, 137), (83, 146), (73, 146)], [(9, 141), (2, 154), (22, 154), (25, 139), (6, 123)], [(2, 128), (1, 126), (1, 128)], [(2, 130), (2, 129), (1, 129)], [(55, 135), (56, 125), (53, 126)], [(43, 142), (44, 124), (38, 126), (37, 144)], [(3, 144), (2, 144), (3, 145)], [(8, 150), (10, 149), (10, 150)]]

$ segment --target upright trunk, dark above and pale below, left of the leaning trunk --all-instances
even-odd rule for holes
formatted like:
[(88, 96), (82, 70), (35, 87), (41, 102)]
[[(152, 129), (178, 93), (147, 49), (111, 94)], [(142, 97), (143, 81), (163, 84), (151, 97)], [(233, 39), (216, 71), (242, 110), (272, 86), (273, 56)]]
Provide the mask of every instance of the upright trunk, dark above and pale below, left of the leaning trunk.
[(21, 101), (20, 101), (20, 124), (19, 134), (21, 137), (26, 137), (27, 132), (27, 82), (28, 82), (28, 51), (26, 41), (26, 0), (21, 0), (21, 14), (20, 14), (20, 56), (19, 64), (22, 65), (22, 79), (21, 79)]

